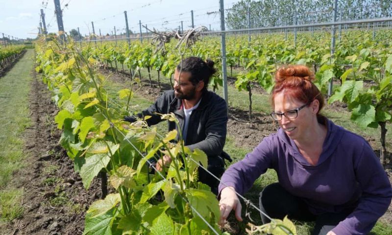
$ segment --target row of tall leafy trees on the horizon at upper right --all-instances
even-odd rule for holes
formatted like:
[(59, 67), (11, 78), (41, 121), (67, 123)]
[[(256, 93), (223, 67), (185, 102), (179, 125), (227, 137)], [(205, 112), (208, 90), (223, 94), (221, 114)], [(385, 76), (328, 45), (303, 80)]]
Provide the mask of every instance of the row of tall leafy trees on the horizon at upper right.
[[(241, 0), (227, 10), (226, 24), (230, 29), (330, 22), (334, 0)], [(342, 20), (392, 16), (392, 0), (338, 0), (338, 16)]]

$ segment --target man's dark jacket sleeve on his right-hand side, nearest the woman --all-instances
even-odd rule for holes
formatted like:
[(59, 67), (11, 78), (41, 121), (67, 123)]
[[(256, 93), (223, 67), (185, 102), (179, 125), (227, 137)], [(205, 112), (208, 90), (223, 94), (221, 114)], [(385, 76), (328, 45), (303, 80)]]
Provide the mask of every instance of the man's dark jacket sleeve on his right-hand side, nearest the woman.
[(219, 156), (223, 151), (227, 133), (227, 105), (223, 99), (215, 103), (210, 110), (205, 125), (206, 138), (203, 141), (187, 145), (192, 151), (202, 150), (207, 156)]

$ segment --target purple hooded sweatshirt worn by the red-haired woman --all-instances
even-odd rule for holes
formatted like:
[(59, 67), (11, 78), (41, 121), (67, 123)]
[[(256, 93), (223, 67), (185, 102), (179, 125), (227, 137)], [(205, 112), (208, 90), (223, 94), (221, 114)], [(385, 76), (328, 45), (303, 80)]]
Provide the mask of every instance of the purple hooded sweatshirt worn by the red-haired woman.
[(354, 209), (332, 230), (337, 235), (368, 234), (391, 203), (391, 184), (364, 138), (330, 120), (327, 127), (318, 164), (309, 164), (280, 128), (226, 170), (219, 191), (232, 186), (244, 194), (272, 168), (282, 187), (303, 198), (314, 214)]

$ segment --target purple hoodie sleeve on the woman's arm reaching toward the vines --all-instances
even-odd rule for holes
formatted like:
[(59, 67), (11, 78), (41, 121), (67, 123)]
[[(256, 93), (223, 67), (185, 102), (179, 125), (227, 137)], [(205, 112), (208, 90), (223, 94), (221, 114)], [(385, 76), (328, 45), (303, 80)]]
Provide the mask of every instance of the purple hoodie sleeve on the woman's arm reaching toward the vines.
[(219, 192), (225, 187), (232, 186), (240, 194), (244, 194), (254, 181), (271, 168), (272, 158), (276, 155), (274, 151), (273, 137), (264, 138), (261, 143), (245, 158), (228, 168), (219, 185)]

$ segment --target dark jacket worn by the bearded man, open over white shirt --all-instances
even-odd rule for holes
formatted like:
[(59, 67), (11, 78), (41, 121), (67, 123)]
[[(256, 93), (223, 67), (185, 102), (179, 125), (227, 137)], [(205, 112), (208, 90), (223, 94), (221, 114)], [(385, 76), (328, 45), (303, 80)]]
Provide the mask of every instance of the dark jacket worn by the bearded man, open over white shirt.
[[(139, 118), (151, 116), (147, 124), (154, 125), (162, 121), (159, 114), (174, 113), (182, 131), (184, 128), (184, 109), (181, 99), (174, 96), (174, 91), (165, 91), (153, 105), (139, 114)], [(134, 122), (135, 118), (125, 117), (126, 121)], [(189, 119), (187, 139), (185, 145), (191, 150), (198, 148), (208, 156), (210, 164), (216, 164), (221, 155), (226, 140), (227, 105), (219, 95), (205, 90), (201, 96), (199, 106), (192, 111)], [(176, 129), (174, 122), (169, 121), (169, 131)], [(178, 139), (178, 135), (177, 135)], [(215, 161), (214, 161), (215, 160)]]

